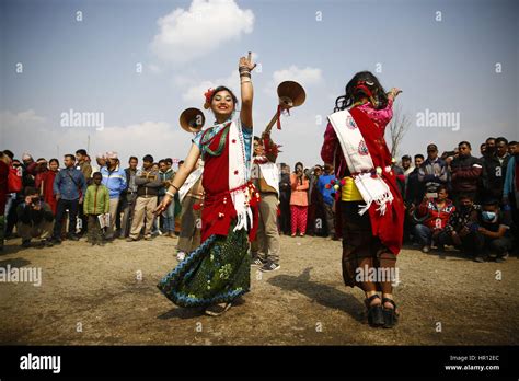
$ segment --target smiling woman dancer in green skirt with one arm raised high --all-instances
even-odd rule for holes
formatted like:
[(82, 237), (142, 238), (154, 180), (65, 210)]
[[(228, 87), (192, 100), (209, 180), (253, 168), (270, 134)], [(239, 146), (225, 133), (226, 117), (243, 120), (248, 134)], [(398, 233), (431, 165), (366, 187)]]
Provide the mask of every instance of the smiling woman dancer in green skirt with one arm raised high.
[(233, 118), (238, 100), (224, 86), (206, 93), (216, 125), (198, 132), (172, 185), (155, 212), (168, 208), (174, 195), (204, 159), (201, 244), (191, 252), (158, 285), (164, 296), (181, 307), (203, 307), (209, 315), (226, 312), (231, 302), (249, 291), (249, 241), (257, 227), (260, 194), (250, 181), (252, 157), (251, 53), (240, 58), (242, 105)]

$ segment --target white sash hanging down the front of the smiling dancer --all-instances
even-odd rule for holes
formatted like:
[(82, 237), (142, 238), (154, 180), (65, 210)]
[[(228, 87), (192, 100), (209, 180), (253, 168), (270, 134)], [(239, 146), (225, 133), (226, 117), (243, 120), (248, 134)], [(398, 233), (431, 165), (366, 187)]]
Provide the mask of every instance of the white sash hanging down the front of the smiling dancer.
[[(245, 185), (250, 178), (245, 154), (245, 139), (243, 138), (241, 124), (233, 120), (229, 128), (229, 189)], [(231, 192), (231, 198), (238, 216), (238, 222), (233, 231), (251, 229), (252, 209), (249, 205), (249, 188), (243, 187)]]

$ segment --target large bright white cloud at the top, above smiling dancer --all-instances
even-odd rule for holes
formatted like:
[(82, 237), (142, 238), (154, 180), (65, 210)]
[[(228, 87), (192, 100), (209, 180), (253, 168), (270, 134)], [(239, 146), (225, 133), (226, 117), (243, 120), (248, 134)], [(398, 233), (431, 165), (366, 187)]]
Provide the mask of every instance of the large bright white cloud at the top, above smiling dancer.
[(251, 33), (254, 13), (233, 0), (193, 0), (187, 11), (175, 9), (157, 23), (152, 51), (166, 61), (185, 64)]

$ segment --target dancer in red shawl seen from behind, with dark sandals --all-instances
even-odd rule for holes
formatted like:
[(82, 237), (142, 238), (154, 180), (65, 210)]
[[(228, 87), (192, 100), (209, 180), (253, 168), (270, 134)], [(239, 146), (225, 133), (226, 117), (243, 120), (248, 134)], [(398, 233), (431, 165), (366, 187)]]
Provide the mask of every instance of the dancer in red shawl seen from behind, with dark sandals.
[(399, 316), (392, 284), (397, 280), (394, 269), (402, 246), (404, 205), (384, 129), (400, 92), (393, 88), (387, 94), (369, 71), (355, 74), (346, 94), (335, 101), (321, 150), (324, 162), (333, 164), (341, 178), (336, 231), (343, 235), (344, 281), (365, 291), (370, 325), (388, 328)]

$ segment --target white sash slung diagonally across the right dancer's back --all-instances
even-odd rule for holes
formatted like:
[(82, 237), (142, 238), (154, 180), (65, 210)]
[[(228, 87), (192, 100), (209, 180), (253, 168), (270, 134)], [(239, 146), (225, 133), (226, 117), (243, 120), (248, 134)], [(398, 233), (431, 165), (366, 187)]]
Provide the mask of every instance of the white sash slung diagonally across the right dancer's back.
[[(358, 173), (374, 170), (374, 164), (362, 134), (360, 134), (349, 112), (343, 109), (328, 115), (328, 120), (337, 135), (349, 172)], [(389, 172), (391, 168), (387, 166), (384, 170)], [(393, 201), (393, 195), (380, 174), (373, 177), (370, 172), (367, 172), (353, 175), (353, 177), (355, 185), (366, 203), (366, 205), (360, 207), (359, 215), (364, 215), (371, 206), (371, 203), (377, 203), (379, 206), (377, 210), (383, 216), (388, 203), (391, 204)]]

